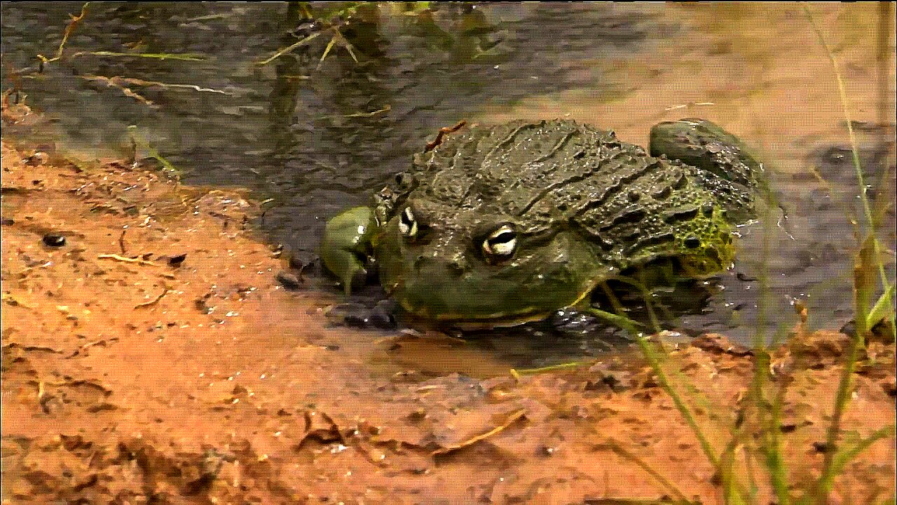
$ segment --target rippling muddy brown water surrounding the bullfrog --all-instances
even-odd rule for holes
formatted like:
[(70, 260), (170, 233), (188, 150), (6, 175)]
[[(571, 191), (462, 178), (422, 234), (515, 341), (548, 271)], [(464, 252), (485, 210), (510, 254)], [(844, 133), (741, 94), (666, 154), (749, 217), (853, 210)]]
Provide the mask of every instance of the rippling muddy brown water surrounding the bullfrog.
[[(3, 5), (4, 89), (12, 83), (8, 68), (50, 56), (68, 14), (80, 8)], [(893, 187), (893, 143), (884, 140), (893, 129), (874, 124), (882, 65), (876, 6), (812, 9), (840, 59), (849, 111), (861, 121), (868, 182)], [(771, 335), (793, 323), (794, 300), (806, 303), (814, 326), (849, 319), (856, 176), (831, 65), (799, 6), (437, 5), (431, 17), (384, 10), (365, 19), (344, 30), (357, 63), (339, 46), (321, 63), (325, 36), (258, 66), (298, 40), (290, 31), (305, 29), (296, 31), (298, 13), (286, 4), (91, 4), (67, 51), (203, 59), (82, 56), (18, 84), (32, 106), (56, 117), (52, 135), (69, 146), (126, 152), (126, 128), (135, 125), (185, 182), (247, 187), (271, 199), (257, 223), (266, 240), (305, 253), (314, 252), (327, 217), (365, 202), (437, 128), (457, 120), (569, 117), (643, 145), (659, 120), (706, 117), (762, 151), (782, 208), (771, 210), (766, 226), (740, 230), (735, 269), (660, 295), (666, 326), (749, 341), (758, 327)], [(893, 40), (885, 52), (892, 83)], [(97, 75), (196, 88), (132, 85), (141, 100)], [(884, 117), (891, 118), (893, 91), (885, 95)], [(893, 193), (875, 196), (878, 204), (893, 202)], [(893, 207), (884, 216), (883, 229), (893, 230)], [(893, 251), (893, 232), (883, 238)], [(893, 253), (885, 263), (893, 271)], [(764, 276), (767, 293), (755, 280)], [(319, 286), (334, 292), (327, 281)], [(335, 339), (351, 341), (348, 333), (334, 332)], [(541, 366), (623, 341), (601, 327), (471, 336), (474, 350), (463, 348), (470, 356), (434, 344), (404, 359), (451, 356), (457, 366), (442, 359), (442, 373), (479, 357), (487, 365), (478, 375), (488, 375), (492, 359), (502, 367)]]

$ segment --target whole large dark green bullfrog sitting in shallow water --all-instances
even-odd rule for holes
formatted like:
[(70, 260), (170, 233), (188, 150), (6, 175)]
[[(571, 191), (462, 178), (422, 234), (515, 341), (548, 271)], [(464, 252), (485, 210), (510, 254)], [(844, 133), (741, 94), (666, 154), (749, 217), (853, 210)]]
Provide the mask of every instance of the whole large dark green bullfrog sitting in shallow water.
[(370, 205), (327, 222), (321, 258), (346, 295), (376, 264), (405, 311), (459, 327), (586, 306), (637, 270), (731, 268), (763, 172), (739, 138), (692, 118), (655, 125), (648, 151), (573, 120), (441, 137)]

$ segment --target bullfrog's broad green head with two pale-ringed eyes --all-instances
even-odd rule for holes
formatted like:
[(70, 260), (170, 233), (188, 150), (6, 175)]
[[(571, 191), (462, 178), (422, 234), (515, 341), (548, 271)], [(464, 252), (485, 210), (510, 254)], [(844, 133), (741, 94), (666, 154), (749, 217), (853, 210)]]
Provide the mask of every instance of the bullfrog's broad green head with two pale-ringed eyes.
[(534, 232), (514, 217), (409, 199), (375, 250), (380, 281), (408, 312), (508, 325), (578, 302), (606, 265), (565, 228)]

